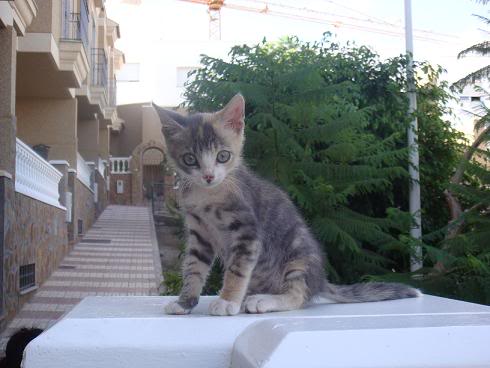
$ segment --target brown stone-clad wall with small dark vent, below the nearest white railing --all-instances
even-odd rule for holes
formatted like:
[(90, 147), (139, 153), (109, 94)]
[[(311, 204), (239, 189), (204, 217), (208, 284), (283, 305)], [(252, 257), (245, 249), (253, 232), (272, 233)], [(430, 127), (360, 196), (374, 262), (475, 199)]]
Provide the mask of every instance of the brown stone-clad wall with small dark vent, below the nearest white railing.
[[(3, 224), (4, 307), (6, 321), (30, 296), (19, 293), (19, 267), (36, 264), (36, 285), (43, 283), (70, 250), (65, 211), (13, 191), (13, 183), (0, 178)], [(11, 186), (9, 190), (9, 186)], [(3, 218), (2, 218), (3, 217)]]

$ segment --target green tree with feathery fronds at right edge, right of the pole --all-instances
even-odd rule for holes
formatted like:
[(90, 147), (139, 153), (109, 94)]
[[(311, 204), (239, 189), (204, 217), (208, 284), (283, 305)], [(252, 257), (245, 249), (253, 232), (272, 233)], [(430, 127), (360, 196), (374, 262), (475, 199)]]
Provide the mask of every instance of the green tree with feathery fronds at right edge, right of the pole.
[[(490, 19), (476, 17), (490, 24)], [(489, 55), (490, 42), (472, 45), (458, 57), (470, 54)], [(490, 65), (487, 65), (454, 86), (462, 89), (475, 85), (474, 88), (485, 92), (476, 84), (488, 80), (489, 75)], [(473, 113), (476, 137), (462, 150), (444, 191), (450, 210), (449, 223), (424, 237), (433, 268), (421, 284), (435, 294), (490, 304), (490, 110), (480, 102)]]

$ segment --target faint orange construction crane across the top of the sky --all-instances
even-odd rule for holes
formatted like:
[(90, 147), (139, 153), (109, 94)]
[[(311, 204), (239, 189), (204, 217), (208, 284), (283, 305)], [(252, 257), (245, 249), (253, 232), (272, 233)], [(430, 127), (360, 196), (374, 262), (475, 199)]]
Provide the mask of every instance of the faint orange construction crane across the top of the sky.
[[(268, 0), (179, 0), (187, 3), (204, 5), (209, 14), (209, 39), (221, 39), (221, 10), (223, 8), (261, 13), (277, 17), (284, 17), (306, 22), (330, 24), (335, 28), (350, 28), (370, 33), (404, 38), (402, 24), (387, 22), (383, 19), (370, 16), (357, 9), (347, 7), (335, 0), (324, 0), (332, 6), (347, 9), (349, 15), (322, 11), (318, 9), (288, 5), (286, 3)], [(351, 15), (357, 14), (357, 15)], [(414, 29), (414, 39), (431, 41), (435, 43), (454, 42), (455, 35)]]

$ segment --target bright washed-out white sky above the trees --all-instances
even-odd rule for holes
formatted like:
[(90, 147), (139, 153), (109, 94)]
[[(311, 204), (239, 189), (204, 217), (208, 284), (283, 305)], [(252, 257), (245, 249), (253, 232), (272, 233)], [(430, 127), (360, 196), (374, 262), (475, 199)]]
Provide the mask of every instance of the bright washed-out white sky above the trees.
[[(208, 37), (207, 7), (181, 0), (107, 0), (108, 16), (120, 24), (122, 50), (127, 63), (139, 63), (140, 82), (118, 85), (120, 103), (155, 101), (172, 106), (182, 102), (176, 83), (177, 67), (199, 65), (199, 55), (226, 57), (235, 44), (273, 41), (287, 35), (320, 40), (331, 32), (340, 42), (370, 46), (382, 58), (404, 53), (403, 0), (228, 0), (230, 4), (322, 17), (311, 22), (223, 8), (222, 39)], [(132, 5), (139, 3), (139, 5)], [(280, 3), (283, 6), (274, 6)], [(288, 7), (315, 10), (294, 10)], [(414, 57), (443, 66), (454, 82), (488, 63), (484, 57), (458, 59), (462, 49), (482, 41), (485, 25), (472, 14), (487, 16), (490, 6), (474, 0), (412, 0), (415, 29)], [(383, 32), (373, 32), (381, 28)], [(489, 28), (490, 29), (490, 28)], [(395, 35), (393, 35), (395, 33)]]

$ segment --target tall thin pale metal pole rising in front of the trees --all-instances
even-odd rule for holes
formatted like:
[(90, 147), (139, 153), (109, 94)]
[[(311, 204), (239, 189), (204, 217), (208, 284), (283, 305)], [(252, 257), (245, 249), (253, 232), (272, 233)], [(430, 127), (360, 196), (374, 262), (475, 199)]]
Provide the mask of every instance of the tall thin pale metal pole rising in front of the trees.
[[(410, 214), (414, 218), (414, 224), (410, 228), (412, 238), (422, 238), (422, 218), (420, 213), (420, 177), (419, 177), (419, 146), (417, 142), (417, 118), (414, 112), (417, 110), (417, 94), (415, 89), (415, 78), (413, 73), (413, 30), (412, 30), (412, 1), (405, 0), (405, 43), (407, 49), (407, 93), (408, 114), (412, 121), (408, 127), (408, 147), (410, 149), (408, 158), (408, 173), (410, 177)], [(417, 246), (410, 259), (410, 270), (416, 271), (422, 267), (422, 248)]]

